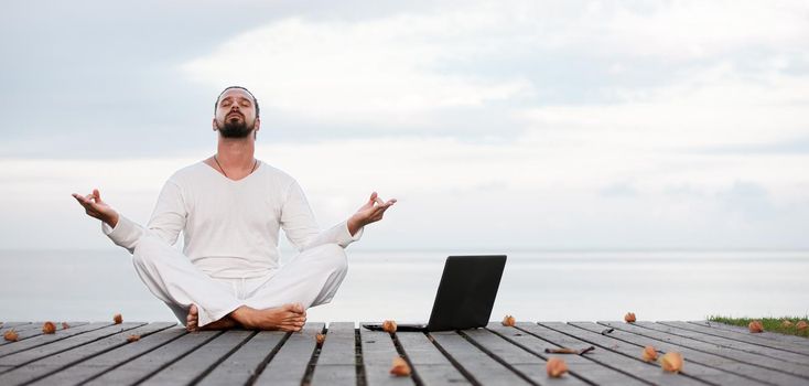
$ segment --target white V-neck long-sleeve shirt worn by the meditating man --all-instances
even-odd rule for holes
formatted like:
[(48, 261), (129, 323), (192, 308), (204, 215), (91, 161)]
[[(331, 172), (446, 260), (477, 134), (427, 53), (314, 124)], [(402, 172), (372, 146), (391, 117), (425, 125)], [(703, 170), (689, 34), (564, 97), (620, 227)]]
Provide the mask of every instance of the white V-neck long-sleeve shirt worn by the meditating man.
[(134, 250), (150, 233), (174, 245), (202, 271), (218, 278), (252, 278), (279, 268), (279, 229), (298, 250), (358, 240), (346, 222), (321, 232), (298, 182), (259, 162), (248, 176), (233, 181), (204, 162), (181, 169), (165, 182), (147, 228), (119, 216), (115, 228), (103, 224), (116, 245)]

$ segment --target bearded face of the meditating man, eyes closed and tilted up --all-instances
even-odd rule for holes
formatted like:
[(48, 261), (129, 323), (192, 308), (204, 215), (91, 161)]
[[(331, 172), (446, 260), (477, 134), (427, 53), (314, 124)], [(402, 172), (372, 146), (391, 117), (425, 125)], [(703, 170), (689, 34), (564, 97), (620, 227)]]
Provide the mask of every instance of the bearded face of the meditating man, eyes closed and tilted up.
[(246, 138), (254, 129), (258, 129), (256, 105), (249, 93), (240, 88), (230, 88), (219, 97), (216, 104), (214, 127), (225, 138)]

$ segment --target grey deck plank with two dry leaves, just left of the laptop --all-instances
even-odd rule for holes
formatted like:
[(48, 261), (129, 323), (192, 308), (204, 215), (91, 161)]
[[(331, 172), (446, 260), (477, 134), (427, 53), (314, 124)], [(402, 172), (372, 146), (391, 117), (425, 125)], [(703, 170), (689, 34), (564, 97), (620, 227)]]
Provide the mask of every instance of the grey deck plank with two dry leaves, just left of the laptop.
[(399, 355), (389, 333), (382, 331), (359, 330), (363, 346), (363, 367), (367, 385), (412, 385), (413, 378), (390, 375), (393, 358)]

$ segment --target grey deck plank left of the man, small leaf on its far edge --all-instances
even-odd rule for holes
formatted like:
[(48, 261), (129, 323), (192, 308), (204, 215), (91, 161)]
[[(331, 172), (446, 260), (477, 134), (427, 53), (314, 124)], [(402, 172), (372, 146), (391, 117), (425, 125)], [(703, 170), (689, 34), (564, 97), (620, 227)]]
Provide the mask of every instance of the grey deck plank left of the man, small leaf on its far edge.
[[(176, 323), (169, 323), (176, 324)], [(142, 329), (142, 328), (141, 328)], [(127, 363), (140, 355), (148, 354), (155, 347), (164, 345), (186, 333), (185, 328), (175, 326), (168, 330), (159, 331), (153, 334), (141, 337), (140, 341), (133, 344), (127, 344), (115, 349), (112, 351), (104, 353), (104, 355), (97, 355), (89, 360), (79, 362), (71, 367), (67, 367), (58, 373), (48, 375), (35, 382), (33, 385), (37, 386), (56, 386), (56, 385), (77, 385), (94, 378), (110, 368), (114, 368), (120, 364)], [(125, 333), (126, 334), (126, 333)], [(129, 334), (126, 334), (127, 336)]]

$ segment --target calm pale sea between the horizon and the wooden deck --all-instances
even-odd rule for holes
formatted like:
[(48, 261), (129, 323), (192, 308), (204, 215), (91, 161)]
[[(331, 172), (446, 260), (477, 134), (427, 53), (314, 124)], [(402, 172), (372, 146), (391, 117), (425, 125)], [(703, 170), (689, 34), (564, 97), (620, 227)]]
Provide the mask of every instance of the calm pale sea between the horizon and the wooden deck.
[[(809, 314), (809, 251), (353, 250), (309, 321), (425, 322), (451, 255), (508, 256), (490, 320), (704, 320)], [(284, 258), (294, 258), (289, 251)], [(112, 250), (0, 250), (0, 321), (174, 321)]]

